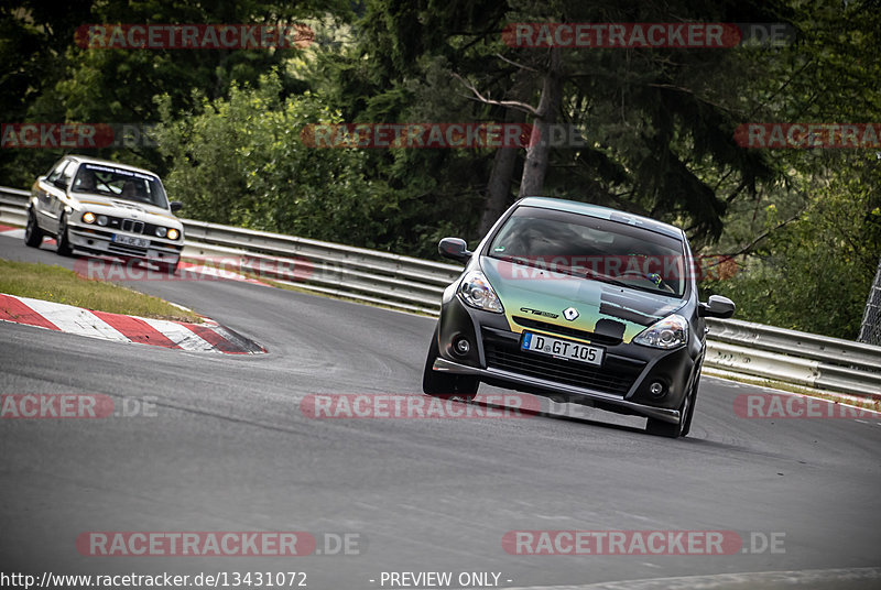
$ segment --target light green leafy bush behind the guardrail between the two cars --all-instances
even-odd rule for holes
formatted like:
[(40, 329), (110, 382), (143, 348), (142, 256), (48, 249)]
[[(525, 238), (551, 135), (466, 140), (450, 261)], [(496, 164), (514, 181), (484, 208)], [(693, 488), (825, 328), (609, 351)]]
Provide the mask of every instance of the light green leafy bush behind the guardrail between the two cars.
[(197, 97), (198, 108), (182, 118), (162, 97), (157, 139), (173, 163), (172, 198), (206, 221), (377, 245), (390, 201), (382, 183), (365, 177), (365, 153), (306, 146), (307, 124), (340, 116), (311, 92), (282, 95), (272, 74), (258, 88), (233, 86), (228, 99)]

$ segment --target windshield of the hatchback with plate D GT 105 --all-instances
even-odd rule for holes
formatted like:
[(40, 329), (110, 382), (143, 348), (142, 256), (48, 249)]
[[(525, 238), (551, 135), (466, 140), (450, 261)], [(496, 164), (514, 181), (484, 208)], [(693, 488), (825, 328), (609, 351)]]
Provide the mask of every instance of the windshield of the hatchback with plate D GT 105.
[(591, 281), (682, 297), (683, 242), (629, 223), (520, 207), (487, 255)]

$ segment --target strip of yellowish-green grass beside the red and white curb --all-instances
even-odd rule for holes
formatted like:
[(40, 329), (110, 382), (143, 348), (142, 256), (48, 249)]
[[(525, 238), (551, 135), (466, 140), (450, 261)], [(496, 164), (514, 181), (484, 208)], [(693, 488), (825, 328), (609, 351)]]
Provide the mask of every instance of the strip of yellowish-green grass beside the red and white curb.
[(159, 297), (113, 283), (84, 278), (74, 271), (57, 265), (0, 260), (0, 293), (111, 314), (193, 324), (202, 321), (193, 312)]

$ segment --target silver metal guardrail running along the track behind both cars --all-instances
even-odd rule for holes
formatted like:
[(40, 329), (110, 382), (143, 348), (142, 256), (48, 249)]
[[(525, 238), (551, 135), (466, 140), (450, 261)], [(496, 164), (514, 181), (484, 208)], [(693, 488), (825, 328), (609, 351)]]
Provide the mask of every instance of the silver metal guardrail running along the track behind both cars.
[[(0, 222), (23, 226), (29, 192), (0, 187)], [(316, 293), (437, 315), (461, 266), (182, 219), (184, 256)], [(704, 365), (881, 400), (881, 347), (733, 319), (708, 320)]]

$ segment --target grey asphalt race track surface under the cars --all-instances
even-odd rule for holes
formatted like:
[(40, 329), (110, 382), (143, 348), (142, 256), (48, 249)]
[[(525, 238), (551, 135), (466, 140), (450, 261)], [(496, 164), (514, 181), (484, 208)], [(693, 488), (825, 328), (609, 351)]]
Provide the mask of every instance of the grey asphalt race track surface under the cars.
[[(73, 264), (7, 237), (0, 258)], [(508, 588), (686, 576), (777, 588), (754, 573), (770, 571), (823, 582), (812, 588), (881, 586), (823, 573), (881, 566), (881, 418), (744, 419), (733, 400), (757, 389), (704, 378), (692, 436), (679, 440), (645, 435), (640, 418), (566, 406), (583, 417), (309, 419), (300, 402), (313, 393), (421, 395), (433, 320), (226, 281), (132, 286), (269, 353), (192, 353), (0, 323), (0, 393), (155, 403), (149, 416), (0, 420), (2, 571), (305, 571), (308, 588), (344, 590), (382, 588), (383, 571), (494, 571)], [(783, 533), (785, 545), (722, 556), (509, 555), (501, 540), (516, 529)], [(361, 555), (94, 557), (75, 546), (89, 531), (355, 533)]]

